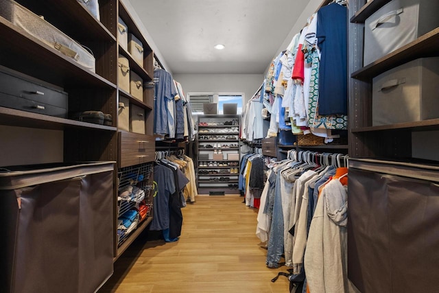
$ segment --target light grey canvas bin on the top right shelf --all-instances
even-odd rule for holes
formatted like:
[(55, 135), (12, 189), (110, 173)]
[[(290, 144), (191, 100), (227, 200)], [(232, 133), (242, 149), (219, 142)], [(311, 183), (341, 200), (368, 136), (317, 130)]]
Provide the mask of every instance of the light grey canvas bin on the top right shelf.
[(439, 1), (392, 0), (364, 25), (364, 66), (439, 26)]

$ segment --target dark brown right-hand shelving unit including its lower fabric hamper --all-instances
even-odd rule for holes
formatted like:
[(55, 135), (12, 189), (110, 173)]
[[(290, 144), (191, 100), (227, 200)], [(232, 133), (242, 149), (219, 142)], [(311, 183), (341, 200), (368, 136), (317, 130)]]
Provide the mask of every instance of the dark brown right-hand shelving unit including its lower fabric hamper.
[[(431, 274), (438, 228), (429, 208), (438, 196), (438, 160), (427, 150), (437, 149), (431, 138), (439, 119), (373, 126), (372, 79), (439, 56), (439, 27), (364, 66), (364, 22), (389, 2), (349, 1), (348, 277), (364, 293), (438, 288)], [(427, 138), (422, 142), (421, 134)], [(406, 263), (412, 263), (407, 272), (401, 269)], [(407, 281), (415, 276), (423, 276), (416, 285)]]

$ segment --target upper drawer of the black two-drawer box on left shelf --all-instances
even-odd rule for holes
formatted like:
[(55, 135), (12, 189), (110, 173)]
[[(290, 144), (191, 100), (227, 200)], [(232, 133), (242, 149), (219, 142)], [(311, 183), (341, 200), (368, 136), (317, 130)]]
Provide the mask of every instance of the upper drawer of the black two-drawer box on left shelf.
[[(0, 94), (7, 96), (9, 99), (16, 99), (16, 97), (19, 97), (27, 99), (28, 101), (34, 101), (36, 104), (43, 103), (57, 108), (64, 108), (67, 113), (67, 93), (49, 89), (46, 86), (41, 86), (4, 72), (0, 72)], [(3, 100), (4, 98), (2, 101)], [(14, 104), (13, 102), (9, 102), (8, 104), (11, 103)], [(21, 102), (17, 102), (17, 104), (21, 104)], [(2, 102), (0, 106), (5, 105)], [(9, 107), (16, 108), (14, 106)]]

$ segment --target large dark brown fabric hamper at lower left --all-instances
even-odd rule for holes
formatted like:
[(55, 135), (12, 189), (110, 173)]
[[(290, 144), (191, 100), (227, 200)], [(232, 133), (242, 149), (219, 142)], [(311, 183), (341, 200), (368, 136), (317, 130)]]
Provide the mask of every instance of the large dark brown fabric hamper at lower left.
[(110, 277), (114, 164), (2, 170), (2, 292), (94, 292)]

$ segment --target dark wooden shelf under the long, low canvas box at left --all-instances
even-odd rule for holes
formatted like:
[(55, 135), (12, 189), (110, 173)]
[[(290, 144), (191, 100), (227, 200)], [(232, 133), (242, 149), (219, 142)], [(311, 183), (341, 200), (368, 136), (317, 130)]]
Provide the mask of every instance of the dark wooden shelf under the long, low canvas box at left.
[(5, 67), (63, 88), (93, 86), (116, 89), (116, 85), (112, 82), (84, 69), (71, 58), (50, 48), (2, 17), (0, 17), (0, 35), (4, 40), (8, 40), (0, 43), (0, 64)]

